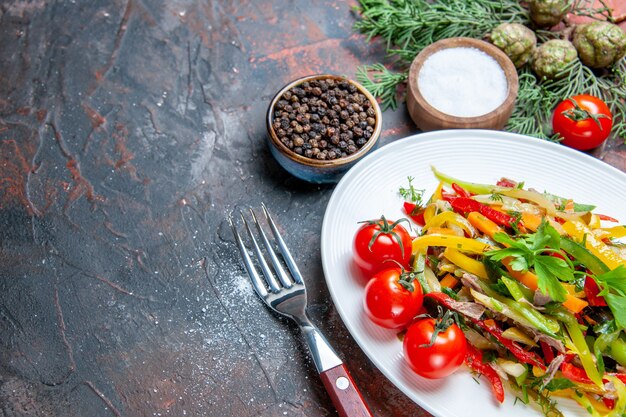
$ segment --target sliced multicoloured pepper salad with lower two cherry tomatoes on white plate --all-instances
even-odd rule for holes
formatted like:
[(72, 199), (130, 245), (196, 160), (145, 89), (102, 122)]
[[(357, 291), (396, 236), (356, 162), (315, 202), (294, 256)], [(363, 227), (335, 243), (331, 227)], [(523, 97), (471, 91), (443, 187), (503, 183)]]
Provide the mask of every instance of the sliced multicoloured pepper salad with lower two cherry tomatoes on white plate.
[[(380, 268), (365, 275), (366, 314), (399, 329), (408, 365), (420, 375), (442, 377), (456, 368), (433, 374), (433, 363), (464, 362), (500, 402), (508, 385), (545, 415), (561, 415), (555, 398), (568, 397), (593, 416), (623, 416), (626, 226), (509, 179), (476, 184), (433, 172), (440, 182), (428, 201), (411, 178), (400, 189), (410, 228), (419, 231), (408, 267), (401, 221), (383, 218), (386, 232), (368, 235), (370, 247), (387, 239), (403, 256), (385, 262), (394, 270), (383, 269), (385, 285), (376, 283)], [(445, 352), (451, 326), (466, 339), (454, 342), (463, 360), (433, 360), (426, 374), (418, 362)]]

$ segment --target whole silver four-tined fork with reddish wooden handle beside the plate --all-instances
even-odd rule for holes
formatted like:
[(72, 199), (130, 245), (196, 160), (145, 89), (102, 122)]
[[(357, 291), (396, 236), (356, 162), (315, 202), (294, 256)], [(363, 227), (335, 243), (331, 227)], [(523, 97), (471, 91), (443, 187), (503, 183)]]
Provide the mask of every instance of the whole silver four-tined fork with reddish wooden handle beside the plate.
[[(248, 271), (252, 286), (269, 308), (276, 313), (289, 317), (298, 324), (304, 335), (304, 340), (309, 348), (317, 372), (320, 374), (324, 387), (330, 395), (339, 415), (341, 417), (371, 417), (372, 414), (354, 384), (348, 369), (320, 330), (309, 319), (307, 314), (306, 286), (302, 275), (278, 231), (276, 223), (274, 223), (267, 207), (265, 207), (265, 204), (261, 204), (261, 208), (274, 235), (275, 244), (278, 246), (283, 261), (287, 265), (287, 269), (290, 271), (291, 275), (287, 273), (283, 264), (278, 259), (276, 252), (272, 248), (272, 243), (270, 243), (269, 238), (263, 231), (256, 214), (250, 209), (252, 221), (256, 226), (258, 236), (265, 248), (272, 268), (268, 265), (266, 257), (261, 250), (261, 246), (255, 237), (255, 233), (252, 232), (243, 213), (240, 213), (241, 219), (250, 237), (249, 240), (252, 244), (252, 252), (254, 257), (256, 257), (257, 264), (260, 266), (262, 274), (259, 274), (249, 254), (248, 248), (237, 231), (232, 215), (228, 217), (228, 223), (233, 229), (233, 234), (235, 235), (235, 240), (241, 252), (241, 257)], [(272, 270), (274, 272), (272, 272)]]

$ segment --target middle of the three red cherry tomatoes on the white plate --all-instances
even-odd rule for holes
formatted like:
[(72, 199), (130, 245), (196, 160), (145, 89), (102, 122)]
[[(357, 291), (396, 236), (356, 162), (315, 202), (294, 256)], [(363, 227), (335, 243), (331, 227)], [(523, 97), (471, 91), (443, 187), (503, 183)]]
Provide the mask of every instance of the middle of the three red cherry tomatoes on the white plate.
[[(412, 281), (406, 288), (400, 280)], [(387, 329), (403, 329), (418, 314), (424, 300), (422, 287), (401, 268), (374, 274), (365, 286), (363, 307), (374, 323)]]

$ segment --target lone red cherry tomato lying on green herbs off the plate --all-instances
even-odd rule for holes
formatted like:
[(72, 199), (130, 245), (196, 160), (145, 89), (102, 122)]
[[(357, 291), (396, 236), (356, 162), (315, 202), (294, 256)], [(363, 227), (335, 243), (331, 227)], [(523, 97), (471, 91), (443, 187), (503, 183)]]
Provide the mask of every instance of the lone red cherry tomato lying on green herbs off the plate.
[(613, 127), (613, 115), (597, 97), (581, 94), (560, 102), (552, 116), (552, 128), (562, 144), (581, 151), (596, 148)]

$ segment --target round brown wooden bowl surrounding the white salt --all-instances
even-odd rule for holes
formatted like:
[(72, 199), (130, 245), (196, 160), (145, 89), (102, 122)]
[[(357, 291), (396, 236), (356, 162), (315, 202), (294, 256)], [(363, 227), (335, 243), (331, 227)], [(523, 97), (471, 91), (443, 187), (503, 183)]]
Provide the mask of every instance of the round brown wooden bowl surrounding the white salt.
[[(420, 92), (418, 79), (424, 62), (434, 53), (446, 48), (476, 48), (491, 56), (504, 71), (507, 92), (504, 101), (493, 111), (471, 117), (454, 116), (440, 111), (426, 101)], [(422, 131), (439, 129), (492, 129), (506, 125), (517, 98), (518, 77), (513, 62), (494, 45), (473, 38), (448, 38), (424, 48), (413, 60), (409, 70), (407, 107), (411, 118)]]

